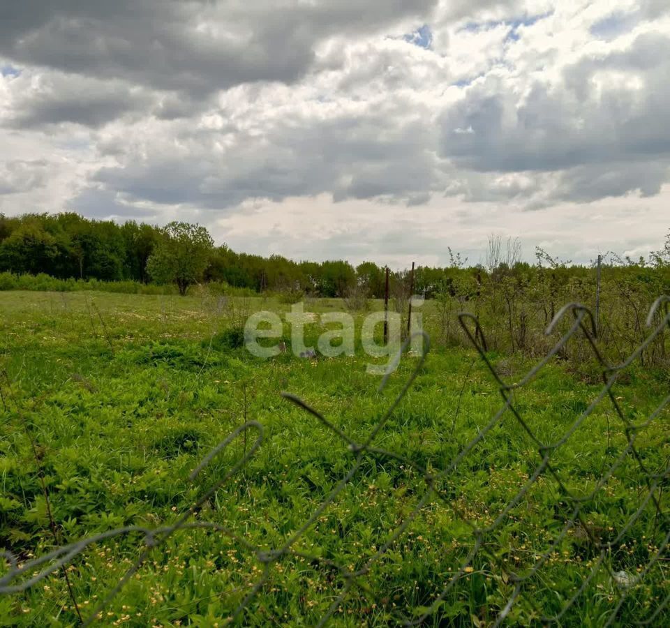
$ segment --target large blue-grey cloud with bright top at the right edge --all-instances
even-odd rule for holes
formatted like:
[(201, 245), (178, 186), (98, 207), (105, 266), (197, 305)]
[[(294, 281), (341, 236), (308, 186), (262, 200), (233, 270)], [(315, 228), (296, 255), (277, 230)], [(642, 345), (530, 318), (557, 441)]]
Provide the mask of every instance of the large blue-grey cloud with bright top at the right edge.
[(561, 171), (560, 199), (657, 193), (670, 163), (670, 61), (658, 50), (669, 46), (641, 35), (565, 68), (563, 89), (537, 81), (523, 97), (491, 77), (442, 115), (440, 154), (463, 170)]

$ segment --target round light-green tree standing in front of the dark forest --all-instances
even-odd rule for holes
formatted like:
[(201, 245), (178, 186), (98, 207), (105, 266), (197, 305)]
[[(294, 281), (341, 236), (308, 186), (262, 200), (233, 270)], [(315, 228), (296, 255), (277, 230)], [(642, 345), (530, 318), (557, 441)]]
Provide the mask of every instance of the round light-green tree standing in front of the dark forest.
[(158, 283), (175, 283), (179, 294), (202, 281), (214, 241), (200, 225), (172, 222), (161, 230), (154, 252), (147, 260), (147, 272)]

